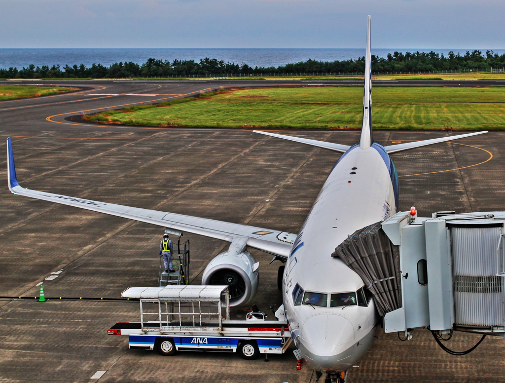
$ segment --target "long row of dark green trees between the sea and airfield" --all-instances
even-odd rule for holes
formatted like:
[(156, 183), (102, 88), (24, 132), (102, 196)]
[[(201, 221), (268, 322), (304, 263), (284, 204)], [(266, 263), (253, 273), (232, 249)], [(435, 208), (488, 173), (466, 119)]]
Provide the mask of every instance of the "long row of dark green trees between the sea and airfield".
[[(84, 64), (60, 68), (60, 65), (27, 68), (0, 69), (0, 78), (136, 78), (136, 77), (170, 77), (170, 76), (233, 76), (255, 74), (296, 74), (296, 73), (349, 73), (363, 72), (365, 57), (358, 60), (322, 62), (307, 60), (304, 62), (286, 64), (279, 67), (249, 67), (247, 64), (235, 64), (217, 59), (168, 60), (148, 59), (142, 65), (133, 62), (114, 63), (109, 67)], [(472, 68), (503, 68), (505, 54), (498, 55), (493, 51), (473, 51), (461, 56), (449, 52), (447, 56), (436, 52), (394, 52), (385, 58), (372, 55), (373, 72), (436, 72), (461, 71)]]

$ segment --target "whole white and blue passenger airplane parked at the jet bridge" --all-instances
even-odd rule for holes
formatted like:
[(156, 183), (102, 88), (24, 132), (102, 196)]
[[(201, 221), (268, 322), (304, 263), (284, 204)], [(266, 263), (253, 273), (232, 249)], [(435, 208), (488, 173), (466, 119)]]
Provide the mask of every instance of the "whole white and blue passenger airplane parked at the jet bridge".
[(326, 373), (326, 382), (344, 382), (347, 370), (372, 346), (380, 318), (363, 280), (331, 254), (357, 229), (385, 220), (398, 211), (398, 175), (390, 154), (487, 133), (481, 131), (386, 147), (375, 142), (372, 137), (370, 20), (368, 16), (359, 143), (346, 146), (255, 131), (342, 154), (298, 234), (23, 188), (17, 180), (10, 137), (7, 139), (9, 188), (13, 194), (25, 197), (230, 242), (229, 249), (207, 265), (202, 284), (228, 284), (232, 306), (247, 304), (258, 290), (259, 263), (246, 249), (274, 255), (272, 261), (285, 263), (279, 267), (279, 284), (288, 328), (298, 353), (316, 371), (318, 380)]

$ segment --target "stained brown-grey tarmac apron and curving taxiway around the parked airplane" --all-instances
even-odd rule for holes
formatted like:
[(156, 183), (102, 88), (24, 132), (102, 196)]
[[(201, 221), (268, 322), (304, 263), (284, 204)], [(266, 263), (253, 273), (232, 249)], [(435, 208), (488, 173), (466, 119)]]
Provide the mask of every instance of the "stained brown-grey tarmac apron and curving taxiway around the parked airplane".
[[(11, 136), (24, 187), (297, 232), (338, 154), (245, 130), (117, 128), (65, 119), (219, 86), (279, 83), (307, 82), (68, 81), (84, 89), (0, 102), (0, 172), (6, 179), (5, 138)], [(145, 93), (157, 95), (136, 95)], [(344, 145), (359, 139), (357, 131), (286, 134)], [(378, 131), (374, 139), (391, 145), (447, 134), (457, 133)], [(416, 206), (419, 216), (438, 210), (505, 210), (505, 132), (457, 142), (463, 145), (443, 143), (392, 155), (400, 175), (401, 210)], [(129, 286), (157, 284), (162, 228), (15, 196), (6, 182), (0, 199), (0, 295), (36, 296), (43, 282), (48, 297), (118, 298)], [(201, 271), (227, 244), (186, 233), (183, 239), (191, 243), (190, 279), (199, 284)], [(260, 262), (258, 306), (280, 304), (280, 263), (269, 265), (272, 257), (259, 251), (251, 254)], [(45, 279), (51, 275), (58, 276)], [(232, 315), (241, 319), (245, 310), (234, 309)], [(0, 381), (88, 382), (97, 381), (90, 379), (96, 371), (106, 371), (100, 383), (315, 380), (307, 366), (295, 369), (290, 351), (271, 355), (268, 363), (221, 353), (163, 357), (128, 350), (126, 337), (106, 333), (118, 321), (138, 320), (138, 304), (132, 302), (0, 300)], [(465, 350), (478, 339), (455, 333), (448, 346)], [(351, 369), (348, 382), (505, 382), (504, 352), (505, 341), (493, 337), (470, 355), (455, 357), (439, 349), (427, 330), (416, 330), (410, 342), (382, 333)]]

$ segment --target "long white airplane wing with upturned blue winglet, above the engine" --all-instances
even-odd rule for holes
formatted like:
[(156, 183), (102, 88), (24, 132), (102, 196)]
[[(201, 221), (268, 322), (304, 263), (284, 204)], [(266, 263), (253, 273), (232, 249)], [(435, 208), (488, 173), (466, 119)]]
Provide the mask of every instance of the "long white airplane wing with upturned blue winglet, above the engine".
[(233, 242), (237, 238), (246, 238), (248, 247), (287, 258), (292, 248), (296, 234), (262, 227), (241, 225), (217, 221), (208, 218), (198, 218), (189, 215), (162, 212), (158, 210), (140, 209), (125, 205), (109, 204), (83, 198), (46, 193), (21, 187), (16, 176), (14, 155), (12, 153), (11, 138), (7, 138), (7, 167), (9, 189), (13, 194), (38, 200), (55, 202), (62, 205), (75, 206), (81, 209), (128, 218), (139, 222), (150, 223), (166, 228), (187, 231), (204, 235), (218, 240)]

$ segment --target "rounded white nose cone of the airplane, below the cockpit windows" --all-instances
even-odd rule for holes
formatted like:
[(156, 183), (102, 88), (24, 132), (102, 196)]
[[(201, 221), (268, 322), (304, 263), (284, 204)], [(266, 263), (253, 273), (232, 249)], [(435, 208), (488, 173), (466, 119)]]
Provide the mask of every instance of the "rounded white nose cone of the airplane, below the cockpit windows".
[(354, 326), (341, 315), (314, 315), (302, 326), (300, 343), (312, 368), (336, 370), (352, 354)]

